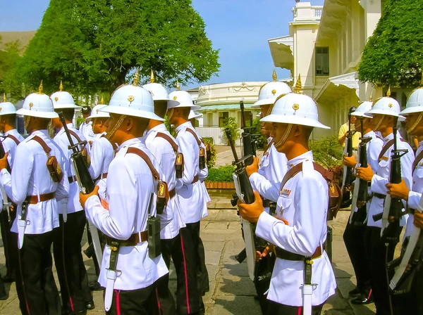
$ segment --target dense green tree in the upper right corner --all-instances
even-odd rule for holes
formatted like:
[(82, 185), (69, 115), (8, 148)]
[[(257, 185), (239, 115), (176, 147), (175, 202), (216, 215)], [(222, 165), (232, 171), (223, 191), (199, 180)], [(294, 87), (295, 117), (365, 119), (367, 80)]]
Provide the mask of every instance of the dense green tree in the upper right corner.
[(386, 0), (364, 47), (358, 78), (375, 86), (418, 86), (423, 68), (423, 1)]

